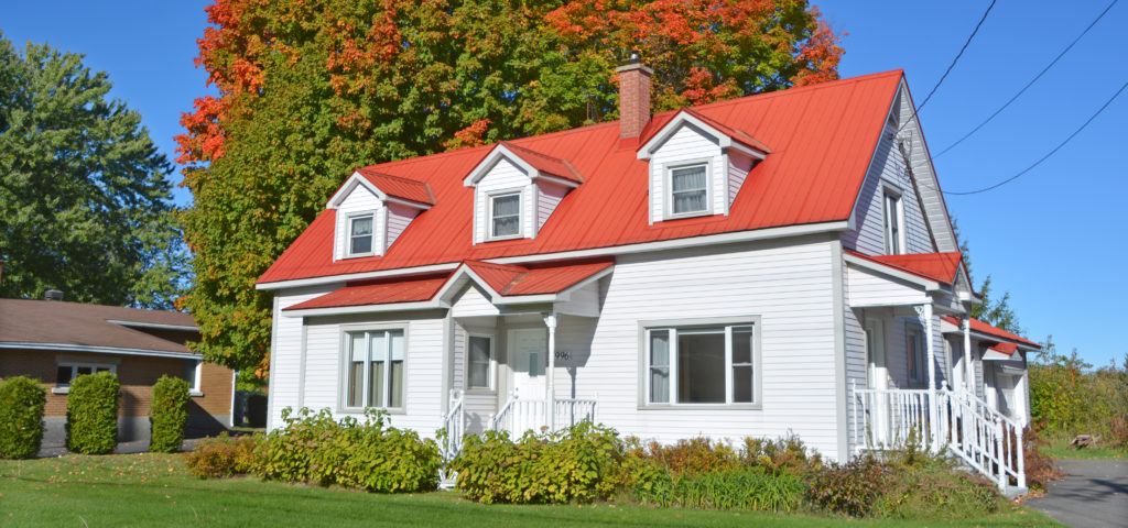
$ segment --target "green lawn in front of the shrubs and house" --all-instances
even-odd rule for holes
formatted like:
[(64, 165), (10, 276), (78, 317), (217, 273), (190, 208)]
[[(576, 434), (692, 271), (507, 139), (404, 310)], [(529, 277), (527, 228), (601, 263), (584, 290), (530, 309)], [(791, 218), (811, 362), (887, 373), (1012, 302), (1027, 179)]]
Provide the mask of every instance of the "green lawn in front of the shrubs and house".
[[(902, 526), (810, 516), (629, 505), (481, 505), (453, 492), (377, 495), (253, 478), (201, 481), (179, 455), (0, 460), (0, 526)], [(918, 526), (1057, 526), (1008, 507), (996, 516)]]

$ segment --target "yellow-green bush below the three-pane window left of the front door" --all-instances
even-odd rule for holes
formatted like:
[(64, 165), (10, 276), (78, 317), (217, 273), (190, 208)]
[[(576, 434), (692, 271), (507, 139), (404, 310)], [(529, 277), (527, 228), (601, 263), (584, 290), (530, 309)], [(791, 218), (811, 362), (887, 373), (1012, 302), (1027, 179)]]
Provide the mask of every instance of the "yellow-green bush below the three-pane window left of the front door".
[(372, 492), (431, 491), (439, 485), (441, 457), (433, 440), (385, 427), (382, 411), (340, 422), (327, 410), (282, 412), (285, 426), (255, 448), (255, 472), (267, 480), (337, 484)]

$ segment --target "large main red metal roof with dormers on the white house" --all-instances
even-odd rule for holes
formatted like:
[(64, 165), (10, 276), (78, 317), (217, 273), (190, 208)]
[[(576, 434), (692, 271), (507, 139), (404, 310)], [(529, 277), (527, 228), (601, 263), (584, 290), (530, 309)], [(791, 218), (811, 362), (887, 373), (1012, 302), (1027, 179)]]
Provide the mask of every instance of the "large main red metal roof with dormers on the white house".
[[(510, 142), (559, 160), (584, 177), (536, 239), (473, 243), (474, 189), (462, 179), (492, 146), (372, 165), (426, 182), (434, 206), (382, 257), (333, 260), (335, 211), (323, 212), (259, 283), (327, 277), (465, 260), (485, 260), (685, 239), (786, 225), (846, 221), (865, 178), (900, 71), (830, 81), (712, 105), (694, 111), (772, 145), (744, 180), (728, 216), (647, 222), (647, 165), (637, 143), (620, 142), (617, 122)], [(654, 116), (661, 126), (675, 111)]]

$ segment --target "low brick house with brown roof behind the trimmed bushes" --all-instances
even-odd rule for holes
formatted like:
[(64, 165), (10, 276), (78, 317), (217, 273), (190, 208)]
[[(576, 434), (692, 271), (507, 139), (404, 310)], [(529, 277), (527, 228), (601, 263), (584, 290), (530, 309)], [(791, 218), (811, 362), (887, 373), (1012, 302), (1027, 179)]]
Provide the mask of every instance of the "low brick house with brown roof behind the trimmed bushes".
[(148, 439), (151, 387), (165, 374), (192, 384), (188, 435), (213, 433), (230, 426), (235, 377), (184, 346), (197, 335), (185, 313), (5, 298), (0, 378), (23, 375), (47, 385), (45, 446), (64, 442), (70, 381), (99, 370), (122, 383), (121, 440)]

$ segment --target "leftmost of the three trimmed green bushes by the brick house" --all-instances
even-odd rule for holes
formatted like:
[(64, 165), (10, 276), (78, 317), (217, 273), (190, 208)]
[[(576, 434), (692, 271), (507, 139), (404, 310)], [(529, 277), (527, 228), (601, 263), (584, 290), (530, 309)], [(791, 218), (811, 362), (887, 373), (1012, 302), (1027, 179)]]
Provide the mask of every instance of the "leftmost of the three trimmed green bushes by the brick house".
[(38, 381), (16, 376), (0, 382), (0, 458), (30, 458), (43, 442), (47, 393)]

